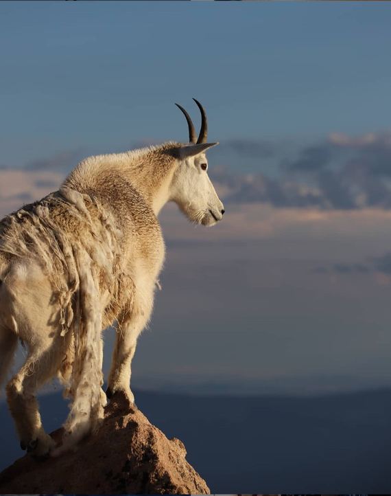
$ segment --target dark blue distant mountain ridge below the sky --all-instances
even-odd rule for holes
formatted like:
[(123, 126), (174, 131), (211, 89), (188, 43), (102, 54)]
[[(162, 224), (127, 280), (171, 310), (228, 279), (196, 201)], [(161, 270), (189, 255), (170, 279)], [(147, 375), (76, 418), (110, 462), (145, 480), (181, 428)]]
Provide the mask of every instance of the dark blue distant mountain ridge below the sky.
[[(211, 493), (390, 493), (391, 390), (317, 397), (185, 396), (134, 391), (137, 406)], [(40, 397), (47, 431), (60, 427), (67, 403)], [(0, 469), (23, 455), (4, 403)]]

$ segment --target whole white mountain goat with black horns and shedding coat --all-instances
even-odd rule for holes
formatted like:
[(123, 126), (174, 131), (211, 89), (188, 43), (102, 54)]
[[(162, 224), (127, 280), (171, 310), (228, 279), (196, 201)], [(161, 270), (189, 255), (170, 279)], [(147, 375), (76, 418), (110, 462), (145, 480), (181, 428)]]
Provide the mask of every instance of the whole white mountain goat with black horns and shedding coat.
[[(185, 109), (189, 143), (89, 157), (60, 189), (0, 221), (0, 385), (18, 340), (28, 354), (5, 387), (21, 448), (37, 456), (74, 447), (97, 431), (107, 398), (130, 401), (130, 363), (152, 313), (165, 257), (158, 213), (174, 201), (189, 221), (222, 220), (208, 177), (207, 122), (200, 135)], [(106, 394), (102, 329), (116, 322)], [(42, 426), (35, 394), (57, 375), (71, 398), (62, 447)]]

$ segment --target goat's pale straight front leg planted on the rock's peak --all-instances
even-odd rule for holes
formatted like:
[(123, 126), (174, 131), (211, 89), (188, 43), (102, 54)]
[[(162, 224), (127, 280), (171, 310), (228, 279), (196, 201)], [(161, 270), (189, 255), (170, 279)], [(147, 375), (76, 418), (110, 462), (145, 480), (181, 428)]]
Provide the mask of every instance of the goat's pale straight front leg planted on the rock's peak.
[(115, 392), (123, 391), (134, 404), (134, 395), (130, 390), (130, 365), (136, 350), (137, 338), (149, 321), (151, 313), (152, 302), (150, 305), (134, 305), (132, 311), (123, 318), (123, 322), (120, 320), (121, 325), (117, 326), (117, 339), (106, 390), (109, 399)]

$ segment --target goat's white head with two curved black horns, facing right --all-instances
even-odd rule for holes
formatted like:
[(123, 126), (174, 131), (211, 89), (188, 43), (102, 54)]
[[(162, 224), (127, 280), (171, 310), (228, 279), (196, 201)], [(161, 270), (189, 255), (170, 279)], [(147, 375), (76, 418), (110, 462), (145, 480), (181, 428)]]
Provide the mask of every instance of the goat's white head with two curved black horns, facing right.
[(224, 205), (217, 196), (211, 179), (209, 179), (205, 152), (218, 143), (206, 143), (208, 133), (206, 114), (200, 102), (194, 98), (193, 100), (200, 108), (202, 117), (198, 138), (189, 114), (176, 104), (185, 114), (189, 126), (189, 144), (180, 148), (178, 169), (171, 184), (171, 199), (178, 204), (189, 221), (203, 225), (214, 225), (222, 220)]

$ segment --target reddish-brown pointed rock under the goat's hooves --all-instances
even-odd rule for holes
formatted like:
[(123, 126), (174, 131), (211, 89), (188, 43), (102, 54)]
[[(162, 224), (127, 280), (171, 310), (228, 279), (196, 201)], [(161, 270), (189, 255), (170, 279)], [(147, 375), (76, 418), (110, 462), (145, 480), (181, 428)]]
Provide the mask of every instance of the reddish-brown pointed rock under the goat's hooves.
[[(60, 443), (62, 433), (51, 437)], [(1, 472), (0, 494), (210, 494), (185, 455), (180, 440), (168, 440), (117, 393), (97, 436), (43, 462), (27, 453)]]

